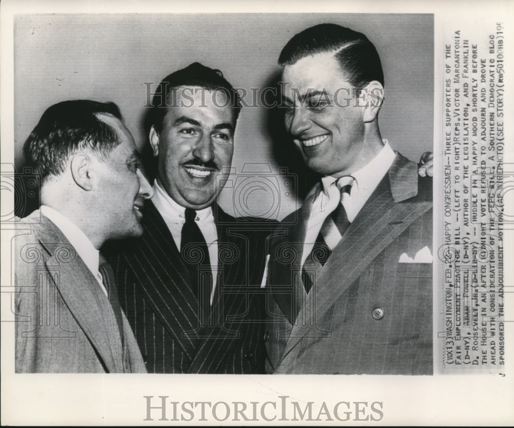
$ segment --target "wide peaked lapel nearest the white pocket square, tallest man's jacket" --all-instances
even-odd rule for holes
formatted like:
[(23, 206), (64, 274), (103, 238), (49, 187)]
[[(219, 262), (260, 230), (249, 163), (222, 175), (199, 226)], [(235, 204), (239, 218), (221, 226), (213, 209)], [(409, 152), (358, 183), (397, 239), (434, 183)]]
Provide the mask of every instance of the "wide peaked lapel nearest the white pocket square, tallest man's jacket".
[[(401, 203), (417, 194), (416, 165), (397, 154), (389, 173), (378, 184), (331, 258), (316, 278), (315, 293), (302, 312), (309, 320), (291, 331), (282, 358), (314, 328), (313, 323), (352, 285), (373, 260), (413, 221), (432, 207), (429, 201)], [(321, 326), (318, 326), (318, 328)]]

